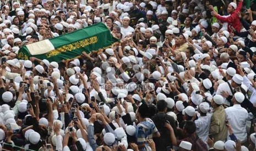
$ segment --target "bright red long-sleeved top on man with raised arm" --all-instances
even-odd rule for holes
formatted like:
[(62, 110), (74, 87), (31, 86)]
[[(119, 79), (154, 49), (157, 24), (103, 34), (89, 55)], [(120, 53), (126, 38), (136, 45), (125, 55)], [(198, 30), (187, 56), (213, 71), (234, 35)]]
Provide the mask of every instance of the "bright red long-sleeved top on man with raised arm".
[(240, 32), (240, 30), (241, 30), (241, 22), (240, 22), (240, 19), (239, 19), (237, 14), (241, 10), (242, 6), (243, 6), (243, 2), (240, 1), (238, 3), (238, 5), (237, 5), (236, 10), (233, 11), (230, 14), (230, 16), (228, 16), (227, 18), (225, 18), (223, 16), (220, 16), (220, 15), (215, 16), (217, 20), (219, 20), (221, 22), (227, 22), (227, 24), (228, 24), (228, 27), (227, 27), (228, 32), (231, 32), (229, 26), (234, 27), (237, 32)]

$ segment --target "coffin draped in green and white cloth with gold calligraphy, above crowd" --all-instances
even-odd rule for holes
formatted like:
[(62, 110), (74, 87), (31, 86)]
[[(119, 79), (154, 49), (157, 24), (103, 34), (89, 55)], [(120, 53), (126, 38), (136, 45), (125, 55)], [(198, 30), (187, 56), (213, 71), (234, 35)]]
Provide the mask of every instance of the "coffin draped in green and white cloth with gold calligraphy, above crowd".
[(89, 54), (115, 42), (118, 42), (118, 39), (100, 22), (72, 33), (26, 45), (20, 48), (18, 59), (29, 60), (33, 56), (50, 62), (61, 62), (80, 56), (83, 51)]

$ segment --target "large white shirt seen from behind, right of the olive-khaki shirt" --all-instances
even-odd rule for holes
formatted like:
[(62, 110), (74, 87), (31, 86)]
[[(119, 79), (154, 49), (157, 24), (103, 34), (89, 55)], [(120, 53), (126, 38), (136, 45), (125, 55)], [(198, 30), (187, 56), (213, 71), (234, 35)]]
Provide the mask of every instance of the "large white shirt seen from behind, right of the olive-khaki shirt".
[(227, 120), (230, 123), (237, 140), (240, 140), (241, 142), (246, 141), (246, 120), (248, 118), (246, 109), (241, 107), (240, 104), (234, 104), (234, 106), (226, 108), (225, 112)]

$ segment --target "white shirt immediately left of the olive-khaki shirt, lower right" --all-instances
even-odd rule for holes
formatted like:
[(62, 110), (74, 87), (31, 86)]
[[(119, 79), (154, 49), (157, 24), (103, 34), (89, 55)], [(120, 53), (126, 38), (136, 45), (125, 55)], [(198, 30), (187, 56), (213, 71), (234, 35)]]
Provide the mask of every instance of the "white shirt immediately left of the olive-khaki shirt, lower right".
[(195, 120), (195, 125), (197, 126), (195, 133), (197, 133), (198, 137), (201, 138), (201, 140), (205, 143), (208, 140), (211, 115), (212, 114), (206, 114), (205, 117), (199, 117), (197, 120)]

